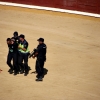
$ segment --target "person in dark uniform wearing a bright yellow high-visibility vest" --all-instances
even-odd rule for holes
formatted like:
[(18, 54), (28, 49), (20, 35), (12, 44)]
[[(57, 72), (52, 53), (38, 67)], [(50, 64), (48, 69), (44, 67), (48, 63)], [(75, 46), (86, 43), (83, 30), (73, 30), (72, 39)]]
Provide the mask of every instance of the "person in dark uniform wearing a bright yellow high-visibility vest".
[[(21, 66), (21, 74), (24, 73), (25, 71), (25, 75), (28, 74), (28, 54), (29, 54), (29, 49), (28, 49), (28, 42), (25, 40), (25, 36), (23, 34), (21, 34), (19, 36), (20, 39), (20, 43), (19, 43), (19, 65)], [(23, 61), (24, 61), (24, 65), (23, 65)]]

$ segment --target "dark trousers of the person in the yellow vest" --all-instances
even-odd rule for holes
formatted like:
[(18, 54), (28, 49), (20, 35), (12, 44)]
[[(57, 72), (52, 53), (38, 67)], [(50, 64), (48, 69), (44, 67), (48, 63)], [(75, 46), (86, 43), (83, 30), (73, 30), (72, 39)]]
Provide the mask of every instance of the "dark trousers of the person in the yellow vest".
[[(25, 72), (28, 71), (28, 53), (21, 53), (19, 52), (19, 57), (18, 57), (18, 64), (21, 67), (21, 70)], [(23, 65), (24, 61), (24, 65)]]

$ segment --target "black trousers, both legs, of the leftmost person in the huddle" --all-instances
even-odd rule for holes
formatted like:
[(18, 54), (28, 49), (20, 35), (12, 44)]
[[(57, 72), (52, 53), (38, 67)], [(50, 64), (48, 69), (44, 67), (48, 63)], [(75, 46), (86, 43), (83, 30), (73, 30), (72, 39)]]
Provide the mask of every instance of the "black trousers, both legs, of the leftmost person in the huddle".
[[(18, 57), (17, 57), (18, 53), (15, 52), (15, 53), (11, 53), (9, 52), (8, 53), (8, 56), (7, 56), (7, 64), (8, 66), (13, 70), (19, 70), (18, 68)], [(13, 65), (11, 64), (11, 60), (13, 60)]]

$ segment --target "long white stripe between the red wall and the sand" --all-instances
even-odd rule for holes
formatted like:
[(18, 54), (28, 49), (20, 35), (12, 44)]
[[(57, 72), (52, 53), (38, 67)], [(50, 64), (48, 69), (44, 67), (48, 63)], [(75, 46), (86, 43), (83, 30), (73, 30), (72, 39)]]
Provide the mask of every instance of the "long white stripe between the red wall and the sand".
[(64, 12), (64, 13), (78, 14), (78, 15), (85, 15), (85, 16), (100, 18), (100, 14), (74, 11), (74, 10), (65, 10), (65, 9), (59, 9), (59, 8), (42, 7), (42, 6), (17, 4), (17, 3), (9, 3), (9, 2), (0, 2), (0, 4), (1, 5), (7, 5), (7, 6), (24, 7), (24, 8), (32, 8), (32, 9), (40, 9), (40, 10), (49, 10), (49, 11), (55, 11), (55, 12)]

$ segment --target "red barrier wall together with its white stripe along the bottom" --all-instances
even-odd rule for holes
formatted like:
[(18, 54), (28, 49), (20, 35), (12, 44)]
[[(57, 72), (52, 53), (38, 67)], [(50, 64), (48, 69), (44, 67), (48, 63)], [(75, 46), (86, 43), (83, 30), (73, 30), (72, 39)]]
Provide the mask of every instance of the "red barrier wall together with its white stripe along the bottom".
[(100, 17), (100, 0), (1, 0), (0, 4)]

